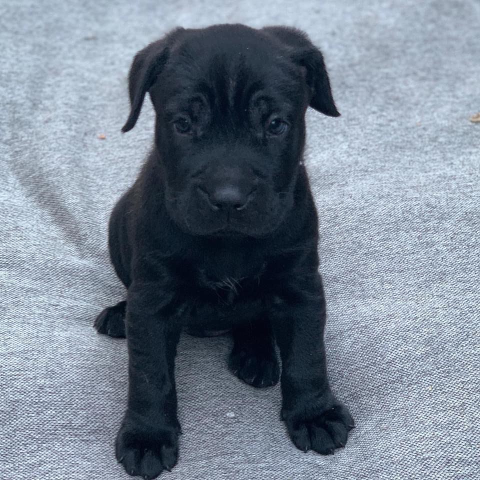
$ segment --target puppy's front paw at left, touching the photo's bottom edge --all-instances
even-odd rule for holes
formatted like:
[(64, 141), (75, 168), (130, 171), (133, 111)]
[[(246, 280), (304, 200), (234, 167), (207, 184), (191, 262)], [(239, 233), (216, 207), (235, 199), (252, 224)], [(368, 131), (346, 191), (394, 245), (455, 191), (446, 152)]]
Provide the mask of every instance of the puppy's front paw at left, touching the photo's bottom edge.
[(157, 426), (154, 420), (125, 417), (118, 431), (115, 456), (130, 475), (150, 480), (171, 470), (178, 458), (178, 426)]

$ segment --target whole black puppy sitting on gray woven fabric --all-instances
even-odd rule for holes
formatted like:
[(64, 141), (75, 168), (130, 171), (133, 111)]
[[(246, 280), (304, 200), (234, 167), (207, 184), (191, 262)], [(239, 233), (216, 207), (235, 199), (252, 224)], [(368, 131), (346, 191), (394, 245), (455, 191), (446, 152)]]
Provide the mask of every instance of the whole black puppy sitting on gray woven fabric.
[(288, 433), (301, 450), (332, 453), (353, 420), (327, 380), (317, 216), (302, 164), (307, 106), (339, 115), (320, 51), (281, 26), (178, 28), (135, 55), (123, 131), (146, 92), (153, 147), (109, 223), (127, 297), (95, 320), (128, 340), (116, 458), (145, 478), (175, 465), (183, 327), (231, 330), (228, 366), (257, 387), (278, 381), (275, 339)]

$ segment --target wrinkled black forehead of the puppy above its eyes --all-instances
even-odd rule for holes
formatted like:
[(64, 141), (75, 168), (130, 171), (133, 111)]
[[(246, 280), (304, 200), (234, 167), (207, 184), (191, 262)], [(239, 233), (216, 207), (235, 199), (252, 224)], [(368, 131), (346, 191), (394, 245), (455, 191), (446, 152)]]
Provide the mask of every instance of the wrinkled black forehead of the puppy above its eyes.
[(224, 108), (245, 106), (259, 94), (293, 106), (301, 96), (302, 77), (268, 39), (197, 35), (172, 49), (159, 83), (167, 109), (198, 94)]

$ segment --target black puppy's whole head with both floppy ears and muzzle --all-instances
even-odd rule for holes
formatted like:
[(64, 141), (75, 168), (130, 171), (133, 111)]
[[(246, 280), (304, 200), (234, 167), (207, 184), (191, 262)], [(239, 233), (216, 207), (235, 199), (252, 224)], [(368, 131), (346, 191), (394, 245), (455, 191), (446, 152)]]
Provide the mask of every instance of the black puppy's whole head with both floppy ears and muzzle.
[(308, 105), (338, 116), (320, 51), (287, 27), (176, 29), (130, 68), (133, 128), (145, 93), (167, 211), (195, 235), (263, 237), (293, 205)]

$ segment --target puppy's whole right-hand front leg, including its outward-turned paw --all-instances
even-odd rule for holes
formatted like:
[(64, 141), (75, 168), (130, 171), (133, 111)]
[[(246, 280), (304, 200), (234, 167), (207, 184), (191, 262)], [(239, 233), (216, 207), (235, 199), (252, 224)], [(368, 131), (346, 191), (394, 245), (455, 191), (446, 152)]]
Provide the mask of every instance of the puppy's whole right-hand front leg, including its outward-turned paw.
[(281, 418), (297, 448), (333, 453), (345, 445), (353, 419), (328, 385), (325, 299), (319, 275), (298, 281), (294, 290), (272, 312), (282, 360)]

